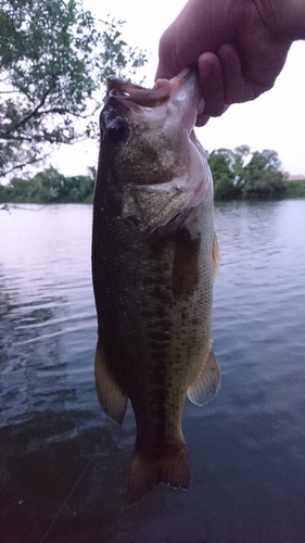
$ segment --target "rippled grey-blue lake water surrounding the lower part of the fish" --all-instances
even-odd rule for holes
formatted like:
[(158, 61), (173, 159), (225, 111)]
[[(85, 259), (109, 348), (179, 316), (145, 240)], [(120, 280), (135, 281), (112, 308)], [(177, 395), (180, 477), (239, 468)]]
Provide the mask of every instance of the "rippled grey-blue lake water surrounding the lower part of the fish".
[(305, 543), (305, 201), (215, 210), (219, 394), (189, 401), (192, 485), (126, 502), (101, 412), (91, 206), (0, 211), (0, 542)]

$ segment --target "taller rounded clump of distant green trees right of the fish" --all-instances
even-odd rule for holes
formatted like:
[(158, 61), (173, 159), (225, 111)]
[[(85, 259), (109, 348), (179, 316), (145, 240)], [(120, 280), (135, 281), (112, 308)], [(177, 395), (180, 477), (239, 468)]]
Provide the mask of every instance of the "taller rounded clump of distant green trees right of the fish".
[(284, 194), (284, 175), (276, 151), (251, 152), (247, 146), (218, 149), (208, 157), (215, 200), (279, 198)]

